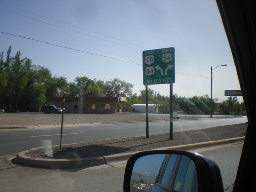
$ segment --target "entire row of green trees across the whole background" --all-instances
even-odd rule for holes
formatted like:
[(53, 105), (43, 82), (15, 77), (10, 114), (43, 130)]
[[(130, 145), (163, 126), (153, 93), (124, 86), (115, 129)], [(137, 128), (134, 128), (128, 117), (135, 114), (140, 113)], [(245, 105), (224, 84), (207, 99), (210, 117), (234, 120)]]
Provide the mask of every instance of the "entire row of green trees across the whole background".
[[(133, 94), (133, 84), (119, 78), (103, 81), (78, 76), (74, 82), (68, 82), (66, 77), (52, 75), (48, 68), (34, 65), (27, 57), (22, 58), (21, 51), (15, 56), (11, 56), (11, 51), (10, 46), (5, 58), (4, 51), (0, 53), (0, 108), (7, 112), (38, 111), (40, 105), (52, 104), (48, 101), (49, 97), (61, 97), (62, 92), (71, 97), (127, 97), (128, 102), (122, 105), (123, 112), (132, 112), (132, 104), (146, 103), (145, 90), (141, 90), (140, 95)], [(169, 113), (169, 96), (162, 96), (149, 89), (148, 100), (150, 104), (158, 105), (160, 113)], [(173, 95), (173, 111), (209, 114), (209, 106), (208, 95), (191, 98)], [(221, 103), (215, 98), (214, 111), (222, 114), (235, 111), (239, 114), (242, 107), (235, 97), (229, 97)]]

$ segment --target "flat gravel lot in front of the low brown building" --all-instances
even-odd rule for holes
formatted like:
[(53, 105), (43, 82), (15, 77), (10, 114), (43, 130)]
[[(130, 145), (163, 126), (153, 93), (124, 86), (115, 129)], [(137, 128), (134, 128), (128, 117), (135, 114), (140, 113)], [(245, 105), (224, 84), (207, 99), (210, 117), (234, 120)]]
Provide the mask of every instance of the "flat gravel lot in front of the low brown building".
[[(19, 125), (60, 125), (62, 114), (42, 113), (2, 113), (0, 114), (0, 127)], [(115, 113), (115, 114), (71, 114), (65, 113), (64, 124), (84, 123), (114, 123), (146, 121), (146, 115), (141, 113)], [(169, 115), (149, 114), (150, 121), (169, 120)]]

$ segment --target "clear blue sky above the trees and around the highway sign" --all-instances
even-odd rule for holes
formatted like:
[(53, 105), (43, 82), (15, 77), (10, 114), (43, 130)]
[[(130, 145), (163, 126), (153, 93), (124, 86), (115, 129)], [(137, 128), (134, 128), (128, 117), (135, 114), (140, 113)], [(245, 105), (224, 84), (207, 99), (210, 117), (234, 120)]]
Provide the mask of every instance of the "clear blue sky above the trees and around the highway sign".
[[(69, 82), (77, 76), (119, 78), (139, 95), (145, 89), (142, 51), (174, 47), (178, 96), (210, 96), (210, 67), (222, 64), (228, 66), (214, 70), (214, 98), (240, 90), (212, 0), (0, 0), (0, 15), (1, 51), (11, 45), (13, 56), (21, 50), (23, 58)], [(148, 88), (169, 96), (166, 84)]]

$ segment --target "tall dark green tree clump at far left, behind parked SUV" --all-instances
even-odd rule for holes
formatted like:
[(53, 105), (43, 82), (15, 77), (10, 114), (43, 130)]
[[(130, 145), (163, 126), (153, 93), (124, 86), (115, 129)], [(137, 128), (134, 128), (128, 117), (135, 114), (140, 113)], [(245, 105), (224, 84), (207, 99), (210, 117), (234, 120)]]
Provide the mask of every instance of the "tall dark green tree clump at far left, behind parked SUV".
[(22, 58), (21, 51), (11, 56), (9, 47), (4, 60), (4, 52), (0, 54), (0, 105), (6, 111), (32, 111), (47, 98), (58, 96), (66, 89), (66, 78), (54, 76), (47, 68), (33, 65), (29, 58)]

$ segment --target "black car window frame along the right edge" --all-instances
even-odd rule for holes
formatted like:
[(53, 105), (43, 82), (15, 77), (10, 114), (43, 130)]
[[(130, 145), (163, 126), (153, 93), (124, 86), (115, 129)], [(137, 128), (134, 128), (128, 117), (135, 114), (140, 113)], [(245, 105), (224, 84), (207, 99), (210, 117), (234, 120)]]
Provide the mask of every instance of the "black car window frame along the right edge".
[(256, 2), (249, 0), (216, 0), (216, 2), (233, 55), (248, 119), (248, 128), (233, 191), (255, 191)]

